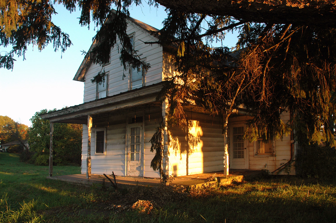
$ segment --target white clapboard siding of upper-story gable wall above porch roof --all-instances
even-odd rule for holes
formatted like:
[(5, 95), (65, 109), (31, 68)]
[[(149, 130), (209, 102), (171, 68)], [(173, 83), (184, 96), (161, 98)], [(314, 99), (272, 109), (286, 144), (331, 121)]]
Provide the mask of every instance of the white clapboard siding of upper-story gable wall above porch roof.
[[(143, 31), (133, 23), (129, 23), (127, 27), (129, 35), (134, 34), (134, 49), (141, 59), (145, 59), (151, 68), (145, 74), (145, 86), (152, 85), (162, 81), (162, 47), (158, 44), (144, 44), (144, 42), (153, 42), (156, 39), (149, 33)], [(118, 42), (118, 41), (117, 41)], [(105, 72), (109, 74), (108, 96), (120, 94), (128, 91), (129, 88), (129, 69), (124, 69), (120, 62), (119, 49), (115, 46), (111, 50), (110, 63), (104, 66)], [(84, 82), (84, 102), (96, 99), (96, 84), (91, 83), (91, 79), (102, 69), (97, 64), (91, 64), (85, 74)]]

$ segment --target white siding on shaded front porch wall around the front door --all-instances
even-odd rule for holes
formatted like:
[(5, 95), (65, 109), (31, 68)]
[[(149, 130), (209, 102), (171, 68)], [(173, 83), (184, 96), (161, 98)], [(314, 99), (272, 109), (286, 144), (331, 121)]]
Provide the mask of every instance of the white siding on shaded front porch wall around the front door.
[[(155, 152), (150, 152), (150, 140), (161, 123), (161, 108), (151, 108), (145, 111), (137, 111), (144, 116), (144, 177), (159, 178), (160, 173), (151, 168), (151, 161)], [(127, 117), (134, 115), (134, 112), (122, 115), (93, 117), (91, 129), (91, 173), (126, 175), (126, 129)], [(106, 153), (95, 155), (95, 129), (106, 128)], [(82, 173), (86, 173), (87, 157), (87, 126), (83, 125), (82, 144)]]

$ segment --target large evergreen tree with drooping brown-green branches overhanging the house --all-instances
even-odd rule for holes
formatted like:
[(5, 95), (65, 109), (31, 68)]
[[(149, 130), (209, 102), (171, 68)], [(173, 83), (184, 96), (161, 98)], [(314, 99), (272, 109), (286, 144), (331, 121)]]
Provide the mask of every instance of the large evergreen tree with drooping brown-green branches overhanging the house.
[[(182, 105), (196, 95), (224, 123), (243, 105), (253, 116), (247, 130), (252, 139), (281, 137), (300, 120), (309, 140), (335, 145), (335, 2), (149, 2), (167, 7), (157, 43), (171, 49), (179, 71), (163, 93), (170, 101), (169, 120), (185, 124)], [(59, 0), (56, 4), (69, 11), (79, 7), (81, 25), (90, 25), (92, 19), (100, 27), (93, 49), (86, 54), (93, 63), (106, 63), (118, 43), (125, 67), (149, 67), (139, 60), (126, 35), (128, 8), (141, 4), (140, 0)], [(0, 67), (11, 69), (14, 54), (24, 56), (28, 44), (41, 50), (52, 43), (55, 49), (66, 50), (71, 41), (52, 23), (54, 13), (51, 1), (0, 0), (1, 46), (13, 46), (0, 55)], [(239, 31), (237, 53), (213, 46), (234, 30)], [(94, 81), (102, 81), (104, 72), (97, 74)], [(288, 123), (281, 119), (285, 111), (291, 113)]]

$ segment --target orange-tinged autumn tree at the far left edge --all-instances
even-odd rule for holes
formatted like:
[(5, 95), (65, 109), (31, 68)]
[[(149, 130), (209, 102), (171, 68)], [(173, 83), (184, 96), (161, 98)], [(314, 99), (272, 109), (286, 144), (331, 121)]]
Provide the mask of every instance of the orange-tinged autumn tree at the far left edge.
[(19, 141), (22, 147), (28, 149), (25, 145), (27, 130), (27, 125), (16, 122), (8, 116), (0, 116), (0, 142), (2, 144)]

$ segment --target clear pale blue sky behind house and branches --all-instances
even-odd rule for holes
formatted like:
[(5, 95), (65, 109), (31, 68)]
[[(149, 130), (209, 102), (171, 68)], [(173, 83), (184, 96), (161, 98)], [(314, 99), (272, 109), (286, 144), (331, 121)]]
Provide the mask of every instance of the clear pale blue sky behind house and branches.
[[(79, 25), (79, 10), (70, 14), (61, 5), (55, 8), (58, 14), (53, 16), (53, 22), (69, 34), (73, 46), (63, 54), (54, 52), (52, 44), (41, 52), (36, 46), (30, 46), (26, 60), (16, 58), (12, 71), (0, 68), (0, 115), (28, 126), (31, 126), (29, 119), (42, 109), (61, 109), (83, 103), (84, 83), (74, 81), (73, 77), (84, 58), (80, 51), (88, 51), (96, 31), (93, 24), (90, 30)], [(130, 13), (131, 17), (158, 29), (166, 18), (161, 6), (158, 9), (134, 6)], [(227, 39), (233, 41), (227, 43), (229, 46), (236, 42), (234, 36)], [(3, 50), (0, 48), (0, 53)]]

